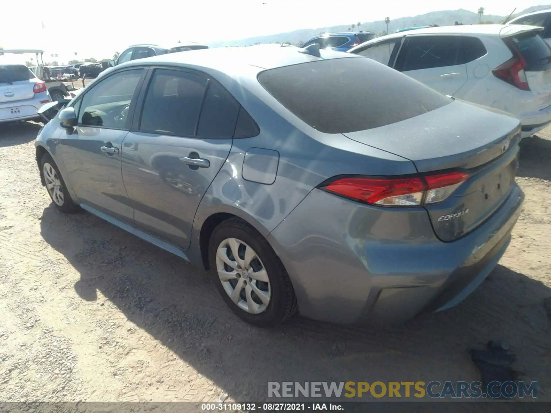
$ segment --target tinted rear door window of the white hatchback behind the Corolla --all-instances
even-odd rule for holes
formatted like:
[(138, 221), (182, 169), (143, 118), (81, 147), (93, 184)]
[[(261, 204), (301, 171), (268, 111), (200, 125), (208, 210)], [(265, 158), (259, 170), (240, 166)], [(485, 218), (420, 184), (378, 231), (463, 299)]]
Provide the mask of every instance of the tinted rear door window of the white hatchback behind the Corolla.
[(461, 64), (461, 36), (408, 36), (398, 60), (401, 72)]

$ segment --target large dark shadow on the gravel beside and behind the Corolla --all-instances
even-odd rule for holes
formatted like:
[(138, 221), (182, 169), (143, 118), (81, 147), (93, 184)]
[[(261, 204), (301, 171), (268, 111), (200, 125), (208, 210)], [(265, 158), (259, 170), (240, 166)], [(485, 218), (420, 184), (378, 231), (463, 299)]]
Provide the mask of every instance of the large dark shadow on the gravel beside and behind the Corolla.
[[(542, 360), (549, 359), (551, 335), (542, 300), (551, 290), (501, 265), (459, 306), (401, 327), (296, 317), (258, 329), (225, 306), (211, 275), (95, 216), (67, 216), (48, 206), (40, 222), (44, 240), (80, 274), (77, 301), (99, 306), (101, 292), (131, 323), (237, 400), (265, 400), (268, 381), (479, 380), (468, 349), (490, 339), (510, 344), (515, 367), (530, 374), (526, 379), (549, 382)], [(87, 307), (76, 308), (88, 317)], [(106, 334), (122, 340), (128, 333)]]

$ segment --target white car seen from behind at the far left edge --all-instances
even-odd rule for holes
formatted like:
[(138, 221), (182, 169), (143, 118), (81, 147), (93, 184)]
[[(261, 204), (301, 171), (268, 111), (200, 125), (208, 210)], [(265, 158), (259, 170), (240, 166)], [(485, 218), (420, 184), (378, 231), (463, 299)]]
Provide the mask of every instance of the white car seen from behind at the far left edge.
[(24, 64), (0, 64), (0, 123), (37, 119), (51, 101), (44, 81)]

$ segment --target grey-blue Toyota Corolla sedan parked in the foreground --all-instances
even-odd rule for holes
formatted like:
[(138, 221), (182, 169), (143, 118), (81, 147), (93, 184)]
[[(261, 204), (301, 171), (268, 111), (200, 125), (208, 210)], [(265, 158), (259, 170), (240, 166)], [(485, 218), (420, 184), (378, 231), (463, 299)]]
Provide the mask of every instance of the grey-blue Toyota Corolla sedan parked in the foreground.
[(517, 119), (369, 58), (261, 45), (117, 65), (35, 144), (59, 210), (209, 270), (239, 317), (272, 326), (462, 301), (520, 214), (519, 138)]

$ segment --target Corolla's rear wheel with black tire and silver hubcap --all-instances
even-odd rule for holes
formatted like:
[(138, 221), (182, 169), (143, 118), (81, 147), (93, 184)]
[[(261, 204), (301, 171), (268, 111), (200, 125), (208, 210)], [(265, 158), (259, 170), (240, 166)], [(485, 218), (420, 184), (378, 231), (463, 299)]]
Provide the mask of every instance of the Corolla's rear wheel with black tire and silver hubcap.
[(268, 241), (245, 221), (232, 218), (215, 228), (209, 264), (223, 300), (245, 322), (273, 327), (296, 313), (287, 271)]

